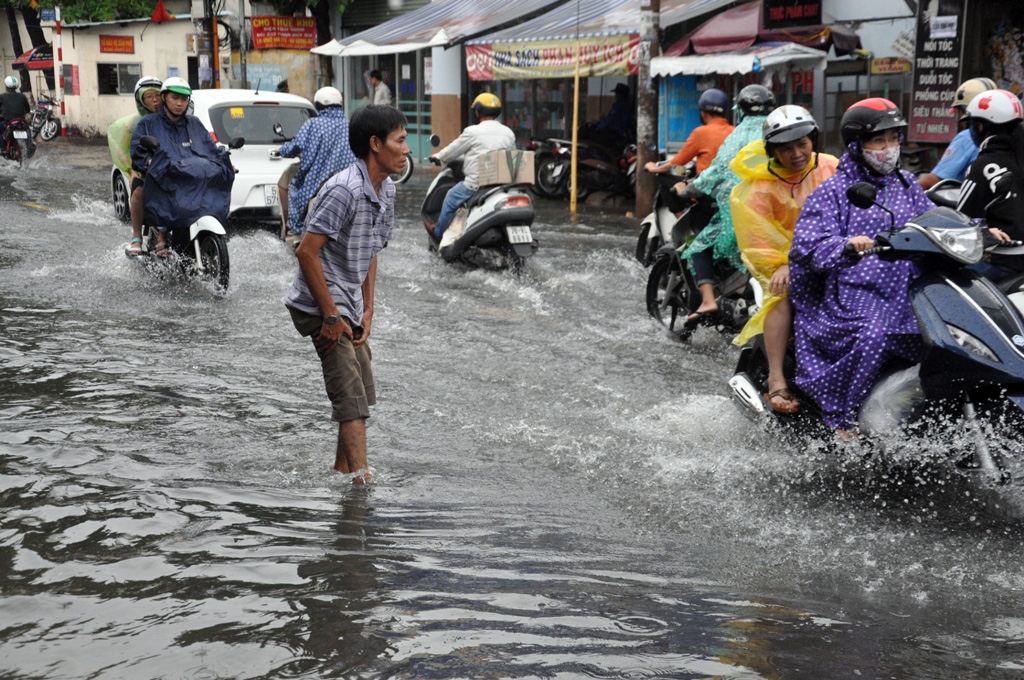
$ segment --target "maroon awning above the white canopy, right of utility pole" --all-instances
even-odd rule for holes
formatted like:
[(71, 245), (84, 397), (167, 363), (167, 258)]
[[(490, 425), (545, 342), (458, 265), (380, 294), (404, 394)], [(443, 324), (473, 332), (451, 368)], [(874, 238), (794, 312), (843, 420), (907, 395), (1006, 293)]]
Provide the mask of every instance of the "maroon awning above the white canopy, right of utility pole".
[(817, 25), (785, 30), (765, 30), (762, 0), (733, 7), (708, 19), (665, 50), (665, 56), (709, 54), (750, 47), (755, 43), (791, 42), (836, 53), (850, 54), (860, 47), (860, 37), (838, 25)]

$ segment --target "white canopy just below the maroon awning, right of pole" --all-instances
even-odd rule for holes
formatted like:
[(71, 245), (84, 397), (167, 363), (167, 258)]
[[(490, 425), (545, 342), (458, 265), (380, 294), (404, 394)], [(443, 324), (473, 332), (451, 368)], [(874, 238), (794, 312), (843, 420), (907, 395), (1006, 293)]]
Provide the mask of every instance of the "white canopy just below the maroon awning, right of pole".
[(777, 69), (823, 69), (825, 53), (796, 43), (763, 43), (754, 47), (688, 56), (656, 56), (650, 60), (651, 76), (703, 76), (748, 74)]

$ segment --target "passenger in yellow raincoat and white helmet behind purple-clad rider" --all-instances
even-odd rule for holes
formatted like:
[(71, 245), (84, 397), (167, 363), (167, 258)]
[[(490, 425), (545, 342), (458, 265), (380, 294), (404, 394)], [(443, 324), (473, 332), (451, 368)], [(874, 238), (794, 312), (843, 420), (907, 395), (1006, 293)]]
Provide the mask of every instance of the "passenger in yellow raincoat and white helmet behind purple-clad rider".
[(807, 197), (836, 174), (839, 159), (818, 153), (818, 124), (803, 107), (779, 107), (765, 119), (764, 140), (744, 146), (730, 168), (741, 180), (729, 199), (732, 226), (743, 264), (765, 291), (761, 309), (733, 342), (764, 334), (768, 356), (765, 398), (780, 413), (797, 413), (782, 364), (793, 328), (790, 246)]

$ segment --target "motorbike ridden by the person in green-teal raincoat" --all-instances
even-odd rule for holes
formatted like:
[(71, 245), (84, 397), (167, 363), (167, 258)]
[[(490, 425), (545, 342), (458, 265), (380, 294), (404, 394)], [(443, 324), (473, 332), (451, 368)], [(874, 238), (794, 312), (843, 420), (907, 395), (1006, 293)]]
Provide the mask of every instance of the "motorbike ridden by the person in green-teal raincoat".
[[(730, 263), (715, 261), (715, 299), (718, 312), (703, 316), (698, 324), (687, 323), (686, 318), (700, 306), (700, 288), (690, 268), (680, 257), (680, 250), (689, 244), (697, 230), (693, 226), (691, 203), (678, 219), (665, 208), (666, 192), (658, 186), (654, 195), (654, 214), (660, 219), (659, 225), (672, 221), (671, 232), (665, 233), (658, 226), (657, 238), (663, 245), (654, 251), (650, 271), (647, 274), (647, 312), (660, 322), (669, 332), (680, 340), (688, 340), (698, 325), (710, 325), (723, 333), (737, 333), (748, 320), (761, 308), (763, 291), (750, 274), (739, 271)], [(660, 214), (662, 212), (667, 214)], [(651, 226), (654, 226), (651, 223)], [(650, 229), (648, 229), (650, 233)], [(648, 237), (649, 241), (651, 237)], [(649, 243), (643, 244), (644, 255)], [(638, 255), (640, 245), (638, 244)]]

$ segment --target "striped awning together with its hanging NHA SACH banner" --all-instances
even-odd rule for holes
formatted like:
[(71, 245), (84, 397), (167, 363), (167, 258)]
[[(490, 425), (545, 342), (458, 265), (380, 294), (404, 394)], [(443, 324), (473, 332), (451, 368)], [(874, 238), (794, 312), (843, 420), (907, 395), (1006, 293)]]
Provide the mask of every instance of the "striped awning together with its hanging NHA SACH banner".
[[(662, 0), (662, 26), (714, 11), (731, 0)], [(640, 0), (571, 0), (515, 27), (466, 43), (471, 80), (571, 78), (637, 73)]]

